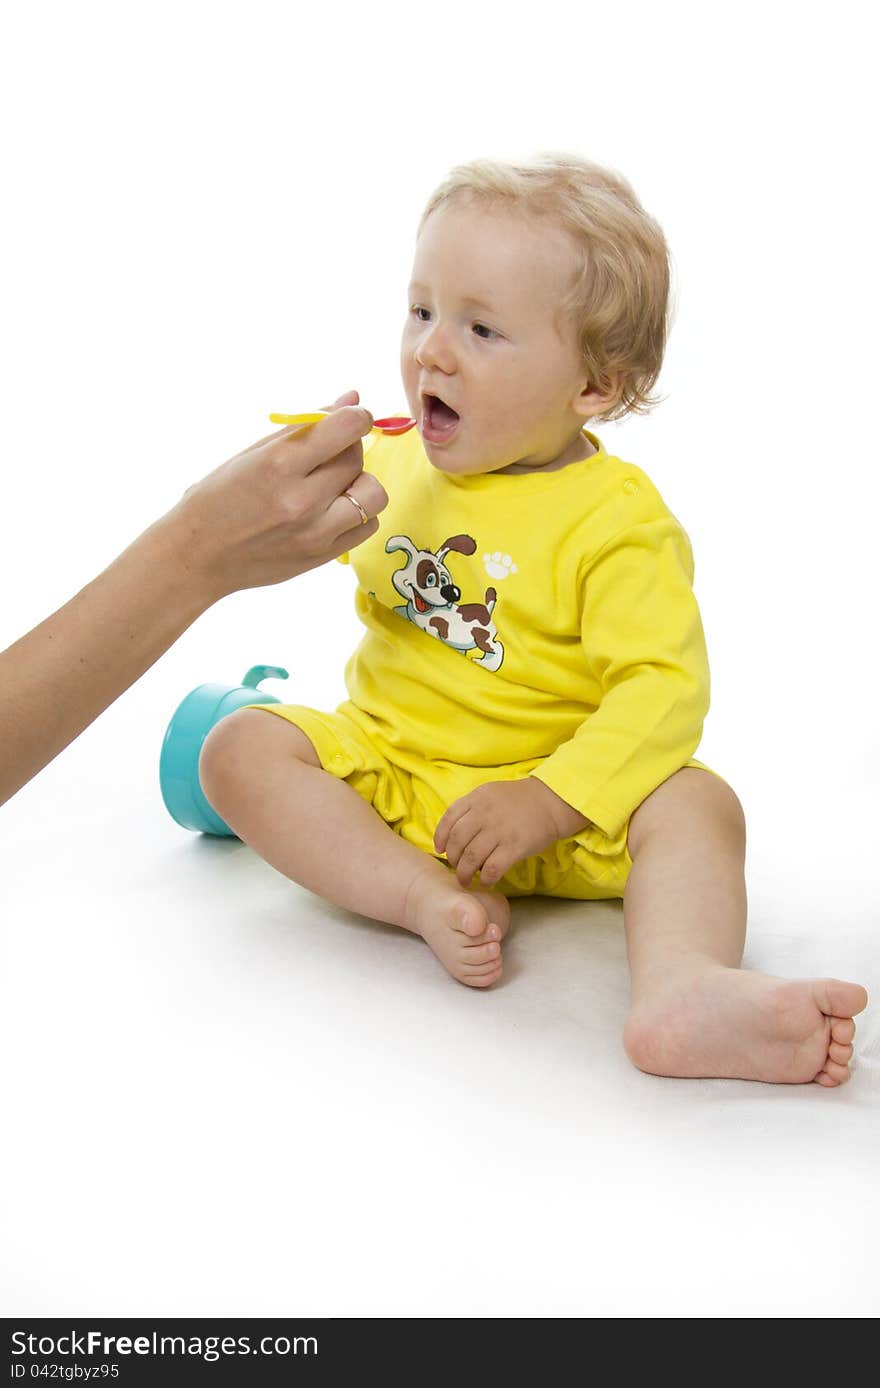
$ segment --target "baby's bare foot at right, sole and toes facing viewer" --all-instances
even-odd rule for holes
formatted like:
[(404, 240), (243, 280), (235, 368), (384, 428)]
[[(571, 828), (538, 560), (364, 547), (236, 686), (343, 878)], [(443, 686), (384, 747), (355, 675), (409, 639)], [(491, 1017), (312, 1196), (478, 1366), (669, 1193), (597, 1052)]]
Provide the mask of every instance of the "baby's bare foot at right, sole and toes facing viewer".
[(826, 1087), (849, 1078), (858, 983), (711, 966), (643, 995), (623, 1045), (651, 1074)]

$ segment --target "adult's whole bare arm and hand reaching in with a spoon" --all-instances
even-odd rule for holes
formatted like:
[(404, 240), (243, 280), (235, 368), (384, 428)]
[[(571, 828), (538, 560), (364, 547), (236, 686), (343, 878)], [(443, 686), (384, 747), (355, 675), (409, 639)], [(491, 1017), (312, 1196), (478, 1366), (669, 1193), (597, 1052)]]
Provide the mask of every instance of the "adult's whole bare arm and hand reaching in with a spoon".
[[(218, 598), (280, 583), (375, 534), (357, 390), (185, 493), (65, 607), (0, 651), (0, 805), (149, 670)], [(371, 518), (343, 496), (348, 489)]]

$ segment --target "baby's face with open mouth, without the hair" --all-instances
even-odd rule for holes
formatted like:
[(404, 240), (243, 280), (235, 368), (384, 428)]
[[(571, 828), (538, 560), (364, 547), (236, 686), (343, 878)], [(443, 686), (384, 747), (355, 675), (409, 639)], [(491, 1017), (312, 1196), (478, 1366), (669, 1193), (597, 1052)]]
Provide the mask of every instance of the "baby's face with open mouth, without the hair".
[[(411, 415), (441, 472), (530, 472), (587, 457), (598, 412), (570, 323), (555, 325), (575, 269), (569, 236), (501, 208), (446, 204), (416, 243), (401, 341)], [(562, 336), (561, 336), (562, 333)], [(458, 415), (426, 437), (426, 396)]]

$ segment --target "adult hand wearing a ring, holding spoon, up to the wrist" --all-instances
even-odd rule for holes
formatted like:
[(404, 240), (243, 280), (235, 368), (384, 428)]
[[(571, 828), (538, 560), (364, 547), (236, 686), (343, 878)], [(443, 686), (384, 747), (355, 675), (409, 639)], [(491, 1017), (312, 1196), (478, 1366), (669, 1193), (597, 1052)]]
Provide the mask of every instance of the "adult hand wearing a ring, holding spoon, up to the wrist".
[[(364, 472), (361, 439), (373, 418), (358, 393), (340, 396), (311, 429), (280, 429), (217, 468), (164, 518), (187, 568), (217, 601), (282, 583), (354, 548), (389, 502)], [(351, 496), (369, 516), (365, 525)]]

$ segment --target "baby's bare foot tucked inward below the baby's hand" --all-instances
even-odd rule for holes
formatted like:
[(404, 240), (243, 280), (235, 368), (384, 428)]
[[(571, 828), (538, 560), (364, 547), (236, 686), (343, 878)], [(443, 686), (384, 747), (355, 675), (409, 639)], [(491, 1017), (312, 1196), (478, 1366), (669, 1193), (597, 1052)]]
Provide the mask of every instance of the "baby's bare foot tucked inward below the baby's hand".
[(501, 977), (501, 941), (511, 908), (500, 892), (471, 891), (448, 867), (429, 863), (409, 887), (407, 917), (409, 929), (459, 983), (489, 988)]

